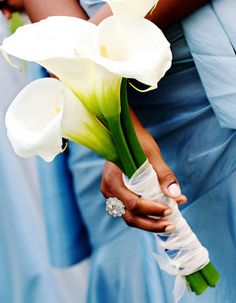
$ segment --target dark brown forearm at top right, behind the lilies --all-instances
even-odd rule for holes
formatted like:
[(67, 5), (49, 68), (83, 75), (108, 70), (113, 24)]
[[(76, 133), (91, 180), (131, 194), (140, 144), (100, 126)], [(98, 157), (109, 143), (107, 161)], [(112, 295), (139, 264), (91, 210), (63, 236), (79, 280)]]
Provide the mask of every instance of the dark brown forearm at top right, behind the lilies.
[(147, 18), (164, 29), (171, 24), (180, 22), (208, 2), (209, 0), (160, 0)]

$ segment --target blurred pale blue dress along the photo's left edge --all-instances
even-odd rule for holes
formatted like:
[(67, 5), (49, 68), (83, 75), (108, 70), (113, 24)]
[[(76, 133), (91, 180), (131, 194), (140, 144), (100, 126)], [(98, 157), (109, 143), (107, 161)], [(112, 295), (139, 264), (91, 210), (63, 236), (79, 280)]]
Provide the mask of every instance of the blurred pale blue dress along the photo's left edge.
[[(0, 13), (0, 41), (7, 35), (7, 22)], [(82, 280), (81, 265), (66, 271), (50, 266), (35, 159), (17, 157), (7, 139), (4, 118), (10, 102), (28, 83), (29, 74), (40, 76), (36, 66), (31, 69), (20, 72), (0, 56), (0, 302), (75, 303), (78, 290), (83, 302), (84, 283), (77, 285)]]

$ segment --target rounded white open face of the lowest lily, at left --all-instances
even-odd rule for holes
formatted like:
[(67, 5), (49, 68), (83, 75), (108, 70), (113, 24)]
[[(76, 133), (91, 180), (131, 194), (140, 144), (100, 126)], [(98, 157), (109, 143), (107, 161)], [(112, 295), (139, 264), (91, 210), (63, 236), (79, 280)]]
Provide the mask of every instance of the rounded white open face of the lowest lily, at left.
[(16, 96), (6, 114), (7, 133), (16, 154), (52, 161), (62, 151), (62, 89), (60, 81), (45, 78), (31, 82)]

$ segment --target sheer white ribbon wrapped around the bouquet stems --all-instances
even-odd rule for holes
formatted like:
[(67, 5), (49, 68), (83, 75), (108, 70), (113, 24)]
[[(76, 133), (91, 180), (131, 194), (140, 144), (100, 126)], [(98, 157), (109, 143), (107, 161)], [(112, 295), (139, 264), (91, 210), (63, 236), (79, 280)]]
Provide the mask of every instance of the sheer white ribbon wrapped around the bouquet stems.
[(205, 267), (209, 262), (208, 251), (201, 245), (190, 226), (183, 218), (175, 200), (165, 196), (152, 165), (146, 161), (130, 178), (124, 177), (126, 187), (146, 200), (168, 205), (172, 214), (167, 218), (176, 229), (171, 233), (159, 233), (158, 244), (163, 247), (165, 257), (154, 253), (161, 269), (176, 276), (174, 299), (179, 302), (186, 289), (184, 276)]

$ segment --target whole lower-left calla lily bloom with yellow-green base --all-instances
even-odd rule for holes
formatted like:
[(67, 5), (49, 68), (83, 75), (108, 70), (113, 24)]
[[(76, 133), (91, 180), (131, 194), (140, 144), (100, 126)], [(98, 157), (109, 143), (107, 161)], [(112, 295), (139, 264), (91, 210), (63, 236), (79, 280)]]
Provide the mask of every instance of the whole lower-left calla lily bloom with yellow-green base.
[(14, 99), (6, 114), (10, 142), (21, 157), (52, 161), (63, 151), (62, 138), (82, 144), (106, 159), (117, 155), (108, 130), (59, 80), (31, 82)]

